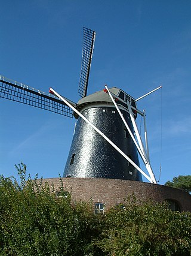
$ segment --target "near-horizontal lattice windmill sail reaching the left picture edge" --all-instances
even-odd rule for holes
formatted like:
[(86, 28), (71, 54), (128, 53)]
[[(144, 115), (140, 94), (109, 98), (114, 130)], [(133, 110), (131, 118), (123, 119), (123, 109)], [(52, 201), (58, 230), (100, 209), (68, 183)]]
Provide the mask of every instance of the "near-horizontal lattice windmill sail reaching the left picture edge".
[(0, 82), (0, 98), (17, 101), (73, 118), (73, 110), (56, 96), (30, 88), (23, 83), (14, 82), (2, 76), (0, 76)]

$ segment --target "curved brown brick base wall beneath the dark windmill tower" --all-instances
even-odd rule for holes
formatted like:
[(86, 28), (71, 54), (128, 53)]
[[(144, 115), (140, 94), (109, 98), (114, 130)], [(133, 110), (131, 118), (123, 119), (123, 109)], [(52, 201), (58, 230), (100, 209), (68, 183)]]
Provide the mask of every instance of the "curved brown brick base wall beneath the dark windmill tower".
[[(156, 185), (146, 182), (119, 179), (96, 178), (61, 178), (67, 191), (72, 191), (75, 201), (89, 201), (104, 203), (106, 210), (115, 204), (124, 203), (124, 198), (134, 194), (137, 199), (154, 201), (174, 200), (183, 211), (191, 212), (191, 195), (181, 189), (170, 186)], [(43, 182), (54, 183), (59, 191), (60, 178), (44, 179)]]

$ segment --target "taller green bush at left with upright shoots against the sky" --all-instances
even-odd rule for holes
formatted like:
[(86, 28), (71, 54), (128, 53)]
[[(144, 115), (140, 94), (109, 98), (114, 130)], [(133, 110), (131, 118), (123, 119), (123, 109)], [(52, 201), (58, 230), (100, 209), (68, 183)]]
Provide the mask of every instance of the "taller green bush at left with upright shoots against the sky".
[(20, 184), (0, 177), (1, 255), (83, 255), (99, 218), (91, 203), (56, 197), (48, 183), (25, 179), (26, 165), (17, 170)]

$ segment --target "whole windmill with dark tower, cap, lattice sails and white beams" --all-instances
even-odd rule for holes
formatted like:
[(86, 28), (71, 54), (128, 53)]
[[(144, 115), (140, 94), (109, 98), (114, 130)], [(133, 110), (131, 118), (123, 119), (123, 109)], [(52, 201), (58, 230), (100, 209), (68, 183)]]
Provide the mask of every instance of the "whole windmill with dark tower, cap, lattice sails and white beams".
[[(143, 174), (156, 183), (149, 160), (145, 113), (137, 109), (137, 100), (122, 89), (107, 88), (87, 95), (91, 59), (96, 32), (84, 28), (84, 44), (78, 92), (74, 103), (50, 88), (49, 94), (0, 76), (0, 98), (78, 119), (63, 177), (92, 177), (141, 181)], [(145, 146), (135, 122), (144, 118)], [(140, 168), (138, 153), (148, 174)]]

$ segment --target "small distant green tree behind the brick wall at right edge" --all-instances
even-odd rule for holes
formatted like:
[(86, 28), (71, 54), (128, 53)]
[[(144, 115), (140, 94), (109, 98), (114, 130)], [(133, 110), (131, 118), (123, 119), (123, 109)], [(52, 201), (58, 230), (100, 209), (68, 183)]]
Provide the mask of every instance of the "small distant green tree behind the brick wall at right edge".
[(168, 180), (165, 183), (166, 186), (172, 186), (173, 188), (180, 188), (183, 189), (186, 192), (191, 192), (191, 175), (187, 175), (187, 176), (178, 176), (178, 177), (174, 177), (172, 179), (172, 182), (170, 180)]

